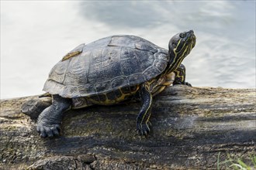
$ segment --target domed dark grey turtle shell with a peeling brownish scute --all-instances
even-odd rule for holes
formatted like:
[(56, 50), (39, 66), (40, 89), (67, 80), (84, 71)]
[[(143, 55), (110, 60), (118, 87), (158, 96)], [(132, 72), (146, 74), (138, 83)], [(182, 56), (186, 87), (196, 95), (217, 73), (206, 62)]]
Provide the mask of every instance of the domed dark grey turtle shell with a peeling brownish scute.
[(50, 71), (43, 90), (61, 97), (88, 97), (139, 85), (161, 74), (168, 50), (137, 36), (109, 36), (81, 44)]

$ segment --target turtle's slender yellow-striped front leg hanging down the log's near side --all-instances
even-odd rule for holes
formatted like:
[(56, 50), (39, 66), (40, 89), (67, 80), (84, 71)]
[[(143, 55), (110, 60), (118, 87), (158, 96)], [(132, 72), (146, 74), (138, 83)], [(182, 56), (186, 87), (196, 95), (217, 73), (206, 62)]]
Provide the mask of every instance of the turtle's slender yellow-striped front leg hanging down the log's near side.
[(147, 84), (142, 85), (140, 88), (140, 98), (142, 107), (137, 117), (137, 131), (140, 135), (147, 135), (150, 132), (150, 114), (152, 107), (152, 94), (150, 93)]

